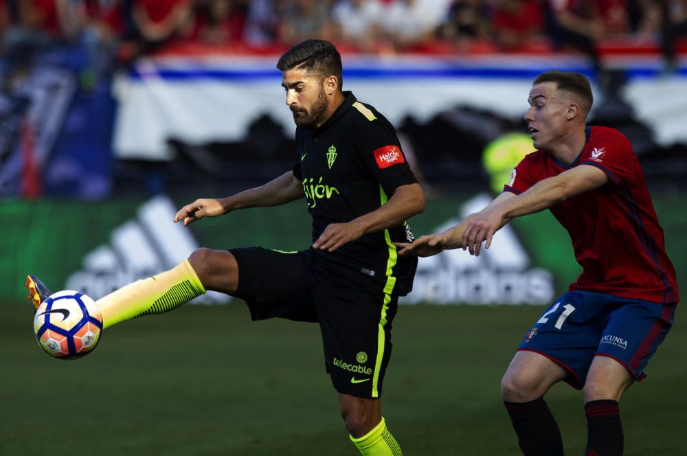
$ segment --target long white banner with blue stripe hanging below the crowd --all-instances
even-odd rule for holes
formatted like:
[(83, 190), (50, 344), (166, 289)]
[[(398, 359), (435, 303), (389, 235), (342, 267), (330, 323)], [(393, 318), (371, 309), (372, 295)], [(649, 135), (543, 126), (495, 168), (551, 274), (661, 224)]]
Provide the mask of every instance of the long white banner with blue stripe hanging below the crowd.
[[(266, 114), (291, 135), (295, 127), (274, 66), (277, 58), (140, 60), (115, 79), (115, 156), (169, 160), (170, 138), (194, 144), (240, 141), (248, 126)], [(406, 116), (425, 122), (459, 105), (517, 119), (528, 107), (527, 94), (538, 73), (552, 68), (589, 72), (582, 58), (560, 56), (344, 58), (343, 65), (343, 88), (396, 125)], [(651, 76), (660, 65), (655, 61), (628, 65), (635, 67), (628, 67), (630, 80), (621, 95), (638, 119), (662, 146), (687, 143), (687, 78)], [(596, 87), (594, 96), (598, 106), (603, 100)]]

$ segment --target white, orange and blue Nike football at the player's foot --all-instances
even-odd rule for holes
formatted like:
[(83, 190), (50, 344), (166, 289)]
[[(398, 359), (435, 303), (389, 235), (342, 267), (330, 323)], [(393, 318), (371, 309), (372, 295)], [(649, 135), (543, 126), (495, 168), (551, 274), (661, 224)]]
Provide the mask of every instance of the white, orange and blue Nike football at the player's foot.
[(38, 306), (34, 333), (43, 350), (60, 359), (92, 352), (100, 341), (102, 316), (95, 301), (73, 290), (50, 295)]

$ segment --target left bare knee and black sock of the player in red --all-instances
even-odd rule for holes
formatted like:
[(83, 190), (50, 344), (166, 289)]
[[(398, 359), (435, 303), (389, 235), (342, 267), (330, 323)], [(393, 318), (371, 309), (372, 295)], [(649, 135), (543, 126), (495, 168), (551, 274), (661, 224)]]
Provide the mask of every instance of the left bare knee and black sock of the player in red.
[(523, 454), (563, 455), (561, 431), (543, 396), (567, 375), (563, 367), (535, 352), (517, 352), (510, 362), (501, 391)]

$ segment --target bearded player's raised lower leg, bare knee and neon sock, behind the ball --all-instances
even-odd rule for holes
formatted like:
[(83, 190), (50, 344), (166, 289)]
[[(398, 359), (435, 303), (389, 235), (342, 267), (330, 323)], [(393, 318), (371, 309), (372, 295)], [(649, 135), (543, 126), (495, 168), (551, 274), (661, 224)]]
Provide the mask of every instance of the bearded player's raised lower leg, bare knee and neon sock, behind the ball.
[(197, 249), (188, 260), (164, 273), (137, 280), (98, 299), (103, 326), (143, 315), (168, 312), (205, 290), (232, 294), (238, 284), (238, 266), (228, 251)]

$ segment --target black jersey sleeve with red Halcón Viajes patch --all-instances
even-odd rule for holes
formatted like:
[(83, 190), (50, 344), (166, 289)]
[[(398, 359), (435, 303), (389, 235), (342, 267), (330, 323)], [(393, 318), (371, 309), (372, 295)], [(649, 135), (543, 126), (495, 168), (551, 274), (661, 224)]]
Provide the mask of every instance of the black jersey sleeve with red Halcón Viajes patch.
[[(374, 110), (371, 106), (365, 107)], [(418, 181), (408, 166), (394, 127), (377, 111), (372, 112), (374, 119), (359, 119), (354, 142), (365, 166), (390, 195), (397, 187)]]

